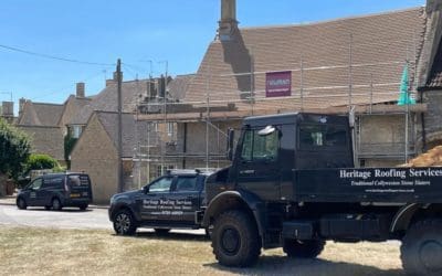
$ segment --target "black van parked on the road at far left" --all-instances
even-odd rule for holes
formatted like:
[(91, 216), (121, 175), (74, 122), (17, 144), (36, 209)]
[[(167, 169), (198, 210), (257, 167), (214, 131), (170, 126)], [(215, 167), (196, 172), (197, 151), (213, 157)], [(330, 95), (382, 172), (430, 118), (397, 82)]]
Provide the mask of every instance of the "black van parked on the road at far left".
[(63, 206), (77, 206), (85, 210), (92, 202), (91, 179), (85, 173), (50, 173), (29, 183), (17, 195), (17, 206), (44, 206), (46, 210), (61, 210)]

